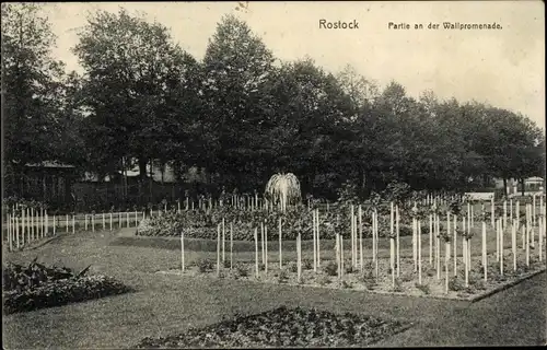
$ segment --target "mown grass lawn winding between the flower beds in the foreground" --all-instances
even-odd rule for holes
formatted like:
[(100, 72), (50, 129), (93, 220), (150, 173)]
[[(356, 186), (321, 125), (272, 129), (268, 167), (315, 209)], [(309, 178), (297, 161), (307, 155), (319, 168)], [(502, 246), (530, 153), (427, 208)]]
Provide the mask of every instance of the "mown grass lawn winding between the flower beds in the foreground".
[[(91, 273), (113, 276), (137, 290), (131, 294), (4, 316), (5, 348), (127, 348), (144, 337), (177, 334), (237, 313), (256, 314), (281, 304), (418, 323), (415, 329), (377, 346), (502, 341), (537, 345), (538, 337), (545, 334), (540, 325), (546, 322), (543, 312), (546, 273), (469, 306), (461, 301), (156, 275), (152, 272), (178, 268), (178, 249), (112, 245), (117, 234), (69, 234), (35, 250), (18, 253), (8, 253), (2, 247), (4, 260), (27, 262), (38, 256), (40, 261), (75, 270), (91, 264)], [(208, 254), (216, 258), (214, 252)], [(245, 255), (254, 258), (249, 252), (241, 253), (237, 258)], [(191, 261), (203, 256), (188, 252), (186, 258)]]

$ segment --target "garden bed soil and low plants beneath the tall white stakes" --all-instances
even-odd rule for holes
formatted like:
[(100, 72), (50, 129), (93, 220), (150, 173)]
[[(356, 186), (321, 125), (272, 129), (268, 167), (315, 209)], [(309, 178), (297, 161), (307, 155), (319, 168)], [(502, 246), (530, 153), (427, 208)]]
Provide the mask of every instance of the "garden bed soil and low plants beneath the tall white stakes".
[(265, 271), (264, 264), (259, 264), (259, 273), (256, 275), (254, 262), (234, 264), (230, 269), (229, 262), (224, 262), (220, 273), (217, 275), (216, 261), (200, 259), (186, 267), (185, 271), (181, 269), (159, 271), (158, 273), (183, 275), (203, 278), (230, 278), (244, 281), (263, 283), (282, 283), (290, 285), (350, 289), (363, 292), (411, 295), (439, 299), (452, 299), (475, 301), (490, 295), (496, 291), (502, 290), (508, 285), (515, 284), (526, 278), (529, 278), (540, 271), (545, 271), (546, 264), (538, 261), (537, 257), (531, 257), (529, 267), (525, 265), (523, 256), (519, 255), (517, 268), (513, 271), (513, 260), (505, 253), (504, 273), (500, 275), (499, 264), (496, 262), (496, 254), (488, 255), (487, 280), (484, 279), (484, 268), (481, 257), (472, 257), (472, 269), (468, 273), (468, 287), (465, 285), (465, 275), (463, 259), (457, 259), (457, 276), (454, 273), (454, 260), (449, 264), (449, 291), (446, 292), (446, 275), (444, 258), (441, 257), (441, 273), (438, 278), (437, 270), (429, 265), (429, 260), (422, 260), (422, 280), (419, 282), (419, 273), (414, 270), (412, 258), (400, 259), (399, 276), (395, 273), (395, 280), (389, 269), (389, 258), (379, 258), (379, 277), (375, 278), (375, 267), (371, 259), (366, 259), (363, 270), (358, 267), (352, 268), (349, 260), (345, 261), (345, 272), (341, 278), (337, 276), (337, 266), (333, 260), (322, 260), (317, 271), (313, 270), (313, 261), (304, 259), (302, 261), (301, 280), (298, 280), (296, 264), (286, 262), (282, 269), (279, 269), (279, 261), (269, 261), (268, 271)]

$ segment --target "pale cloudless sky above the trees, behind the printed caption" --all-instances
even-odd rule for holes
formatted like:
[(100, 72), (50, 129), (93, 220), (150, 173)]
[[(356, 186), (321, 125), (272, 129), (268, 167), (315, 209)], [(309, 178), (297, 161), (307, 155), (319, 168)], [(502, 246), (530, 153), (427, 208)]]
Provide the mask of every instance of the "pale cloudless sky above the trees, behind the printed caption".
[[(78, 27), (96, 10), (120, 7), (171, 28), (173, 39), (202, 59), (224, 14), (235, 14), (281, 60), (311, 57), (333, 73), (346, 65), (385, 86), (392, 80), (418, 97), (476, 100), (520, 112), (545, 130), (543, 1), (94, 2), (44, 4), (57, 35), (56, 58), (81, 71), (71, 48)], [(359, 23), (325, 30), (319, 21)], [(388, 24), (408, 23), (411, 30)], [(444, 30), (443, 22), (498, 23), (501, 30)], [(422, 30), (415, 30), (417, 23)], [(428, 30), (439, 23), (439, 30)]]

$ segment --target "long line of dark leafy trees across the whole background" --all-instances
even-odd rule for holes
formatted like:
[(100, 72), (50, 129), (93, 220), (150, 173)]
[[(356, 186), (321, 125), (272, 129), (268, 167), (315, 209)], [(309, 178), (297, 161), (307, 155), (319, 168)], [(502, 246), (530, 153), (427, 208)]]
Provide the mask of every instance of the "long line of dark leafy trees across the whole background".
[(206, 168), (240, 191), (291, 172), (323, 196), (342, 184), (365, 195), (393, 182), (453, 190), (545, 174), (545, 136), (526, 116), (432, 91), (415, 98), (351, 66), (281, 61), (233, 15), (201, 60), (124, 9), (90, 14), (78, 36), (83, 72), (66, 72), (39, 5), (2, 4), (4, 170), (55, 160), (102, 177), (138, 164), (144, 180), (153, 161), (177, 176)]

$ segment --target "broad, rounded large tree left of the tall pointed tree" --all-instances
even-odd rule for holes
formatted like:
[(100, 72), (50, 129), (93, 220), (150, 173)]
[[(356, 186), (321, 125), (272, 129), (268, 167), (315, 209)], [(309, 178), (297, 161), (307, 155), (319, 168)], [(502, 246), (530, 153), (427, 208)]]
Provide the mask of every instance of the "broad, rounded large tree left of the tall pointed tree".
[(144, 177), (153, 160), (185, 160), (199, 118), (196, 60), (165, 26), (124, 9), (92, 14), (79, 36), (92, 167), (114, 173), (137, 159)]

